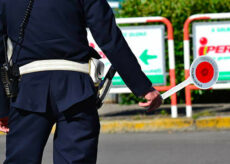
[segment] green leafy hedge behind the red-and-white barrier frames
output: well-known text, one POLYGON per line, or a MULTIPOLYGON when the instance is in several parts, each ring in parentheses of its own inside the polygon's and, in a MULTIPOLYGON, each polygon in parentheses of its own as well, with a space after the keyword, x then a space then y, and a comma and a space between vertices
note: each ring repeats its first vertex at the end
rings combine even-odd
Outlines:
MULTIPOLYGON (((172 22, 176 54, 176 79, 178 83, 184 80, 183 25, 186 19, 198 13, 229 11, 230 1, 228 0, 124 0, 122 8, 117 11, 117 17, 163 16, 172 22)), ((194 92, 193 96, 202 95, 205 92, 209 93, 210 91, 194 92)), ((178 92, 178 101, 179 103, 184 103, 183 91, 178 92)))

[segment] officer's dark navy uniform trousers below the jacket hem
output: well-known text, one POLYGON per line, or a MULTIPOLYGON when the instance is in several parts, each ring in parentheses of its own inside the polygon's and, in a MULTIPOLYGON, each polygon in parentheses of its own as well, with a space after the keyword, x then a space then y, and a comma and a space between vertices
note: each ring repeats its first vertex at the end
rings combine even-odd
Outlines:
POLYGON ((49 100, 46 111, 35 113, 11 107, 4 164, 40 164, 55 123, 54 164, 95 164, 100 131, 95 96, 62 113, 49 100))

